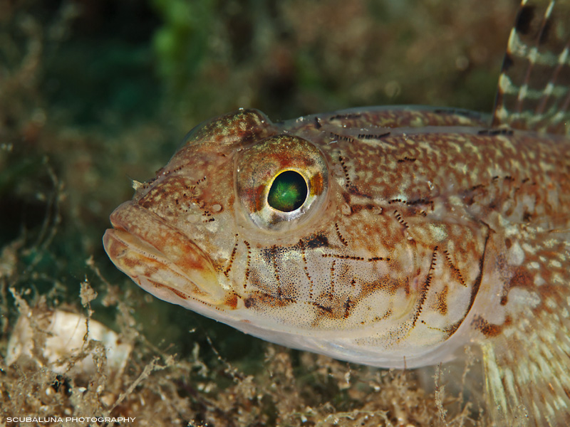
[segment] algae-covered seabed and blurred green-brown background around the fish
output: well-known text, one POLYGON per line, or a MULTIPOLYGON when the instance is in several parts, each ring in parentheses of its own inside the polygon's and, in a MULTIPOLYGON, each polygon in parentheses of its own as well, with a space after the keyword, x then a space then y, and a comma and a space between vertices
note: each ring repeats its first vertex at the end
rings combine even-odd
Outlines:
POLYGON ((100 237, 132 196, 130 179, 150 178, 188 130, 237 107, 274 120, 386 104, 490 112, 516 9, 510 0, 1 2, 0 425, 18 416, 482 425, 477 354, 386 371, 267 344, 147 295, 100 237), (125 364, 113 368, 88 337, 51 361, 45 331, 61 311, 114 330, 132 349, 125 364), (9 364, 14 334, 33 346, 9 364), (89 369, 71 369, 88 357, 89 369))

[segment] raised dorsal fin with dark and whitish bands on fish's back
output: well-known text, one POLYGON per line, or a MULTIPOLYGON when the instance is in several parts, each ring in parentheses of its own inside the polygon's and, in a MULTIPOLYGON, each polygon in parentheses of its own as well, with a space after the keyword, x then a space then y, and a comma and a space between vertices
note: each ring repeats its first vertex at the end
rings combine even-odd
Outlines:
POLYGON ((493 112, 502 125, 570 134, 570 0, 522 0, 493 112))

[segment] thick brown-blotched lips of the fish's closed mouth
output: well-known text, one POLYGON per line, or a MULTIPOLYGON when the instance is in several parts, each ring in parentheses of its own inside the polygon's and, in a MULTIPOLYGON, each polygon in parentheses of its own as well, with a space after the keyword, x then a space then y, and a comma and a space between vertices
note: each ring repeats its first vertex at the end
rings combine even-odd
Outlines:
POLYGON ((103 247, 115 266, 155 297, 195 310, 222 305, 227 292, 209 257, 151 211, 125 202, 110 216, 103 247))

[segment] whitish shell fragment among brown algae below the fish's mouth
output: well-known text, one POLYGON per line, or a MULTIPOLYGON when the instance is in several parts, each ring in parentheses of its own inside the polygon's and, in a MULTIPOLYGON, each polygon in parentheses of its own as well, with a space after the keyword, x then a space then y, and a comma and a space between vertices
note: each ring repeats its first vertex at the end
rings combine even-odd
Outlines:
POLYGON ((87 327, 86 317, 76 313, 56 310, 41 319, 34 318, 33 324, 35 327, 26 315, 19 317, 8 342, 6 364, 14 364, 20 357, 30 357, 43 366, 42 361, 33 356, 35 343, 43 342, 40 354, 45 357, 46 367, 51 371, 56 374, 65 374, 70 370, 76 374, 93 374, 96 369, 92 355, 80 356, 92 339, 102 342, 105 347, 108 373, 118 374, 125 368, 132 350, 130 344, 121 343, 118 334, 102 323, 89 320, 87 327), (86 333, 88 335, 84 341, 86 333), (37 339, 42 334, 45 334, 45 341, 37 339), (70 367, 70 359, 75 357, 79 359, 70 367))

